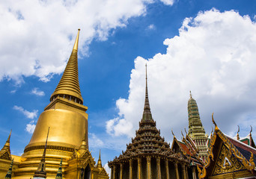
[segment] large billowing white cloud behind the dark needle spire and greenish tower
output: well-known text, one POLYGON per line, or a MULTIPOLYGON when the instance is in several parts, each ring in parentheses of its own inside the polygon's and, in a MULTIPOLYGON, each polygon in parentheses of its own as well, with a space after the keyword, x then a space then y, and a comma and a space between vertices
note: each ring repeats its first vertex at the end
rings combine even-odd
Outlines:
POLYGON ((171 128, 179 135, 188 126, 189 90, 208 132, 213 112, 225 133, 247 124, 248 116, 256 119, 256 24, 249 16, 234 10, 200 12, 184 19, 179 35, 164 45, 165 54, 135 59, 129 97, 116 101, 119 117, 106 122, 109 133, 135 135, 144 106, 145 63, 151 111, 167 140, 171 128))

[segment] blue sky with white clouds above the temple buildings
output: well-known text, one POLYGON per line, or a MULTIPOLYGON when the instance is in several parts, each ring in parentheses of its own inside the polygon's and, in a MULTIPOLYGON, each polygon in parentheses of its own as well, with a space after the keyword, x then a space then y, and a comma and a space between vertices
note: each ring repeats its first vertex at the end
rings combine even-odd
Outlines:
POLYGON ((188 128, 189 90, 208 134, 213 112, 231 136, 237 125, 242 136, 256 127, 253 0, 7 1, 0 10, 0 143, 12 129, 12 154, 22 154, 49 104, 78 28, 79 83, 96 160, 100 148, 103 163, 112 160, 134 136, 146 62, 153 118, 168 142, 171 128, 177 136, 188 128))

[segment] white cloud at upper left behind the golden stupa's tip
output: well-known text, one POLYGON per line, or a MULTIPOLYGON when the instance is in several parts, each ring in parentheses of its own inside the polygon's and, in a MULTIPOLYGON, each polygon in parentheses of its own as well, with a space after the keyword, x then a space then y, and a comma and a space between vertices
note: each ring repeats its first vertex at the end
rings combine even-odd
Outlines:
MULTIPOLYGON (((156 1, 156 0, 155 0, 156 1)), ((76 29, 81 28, 80 54, 91 40, 106 40, 109 31, 146 13, 154 0, 3 1, 0 4, 0 81, 35 75, 49 81, 64 70, 76 29)), ((171 4, 170 0, 162 1, 171 4)))

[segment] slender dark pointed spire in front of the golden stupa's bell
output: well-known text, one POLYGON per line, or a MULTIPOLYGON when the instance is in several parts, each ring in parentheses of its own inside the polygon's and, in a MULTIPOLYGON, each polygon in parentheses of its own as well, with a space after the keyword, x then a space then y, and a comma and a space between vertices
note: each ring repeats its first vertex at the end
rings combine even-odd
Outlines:
POLYGON ((44 149, 43 149, 43 157, 39 163, 37 171, 34 172, 33 178, 46 178, 46 148, 47 148, 48 136, 49 136, 49 128, 48 128, 48 133, 46 137, 46 145, 44 146, 44 149))

